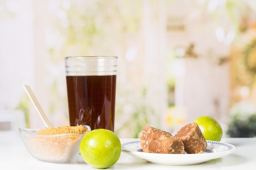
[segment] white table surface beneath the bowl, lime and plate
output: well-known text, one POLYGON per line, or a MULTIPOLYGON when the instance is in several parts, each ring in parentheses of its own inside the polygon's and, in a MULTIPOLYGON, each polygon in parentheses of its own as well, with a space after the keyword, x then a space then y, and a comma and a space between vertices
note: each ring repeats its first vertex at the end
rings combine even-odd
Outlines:
MULTIPOLYGON (((121 143, 134 141, 136 139, 120 139, 121 143)), ((114 166, 108 169, 115 170, 251 170, 256 166, 256 138, 222 138, 220 142, 225 142, 236 146, 236 150, 230 155, 213 159, 198 165, 170 166, 149 163, 143 159, 132 157, 126 152, 121 152, 121 156, 114 166)), ((81 155, 78 155, 69 163, 47 163, 38 161, 32 157, 22 142, 17 131, 0 131, 0 170, 95 170, 86 164, 81 155)))

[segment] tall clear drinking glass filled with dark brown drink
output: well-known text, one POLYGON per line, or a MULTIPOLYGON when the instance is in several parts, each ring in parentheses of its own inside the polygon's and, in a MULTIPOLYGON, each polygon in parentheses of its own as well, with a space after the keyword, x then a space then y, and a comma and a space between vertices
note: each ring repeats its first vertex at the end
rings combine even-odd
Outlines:
POLYGON ((114 132, 117 56, 64 57, 70 126, 114 132))

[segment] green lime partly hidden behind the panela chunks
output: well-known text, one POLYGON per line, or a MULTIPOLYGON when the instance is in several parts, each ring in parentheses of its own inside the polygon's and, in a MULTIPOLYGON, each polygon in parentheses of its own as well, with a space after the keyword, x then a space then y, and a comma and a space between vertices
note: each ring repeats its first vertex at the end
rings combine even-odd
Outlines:
POLYGON ((222 128, 213 117, 202 116, 196 118, 193 122, 198 124, 206 140, 220 141, 222 138, 222 128))

